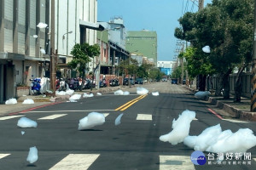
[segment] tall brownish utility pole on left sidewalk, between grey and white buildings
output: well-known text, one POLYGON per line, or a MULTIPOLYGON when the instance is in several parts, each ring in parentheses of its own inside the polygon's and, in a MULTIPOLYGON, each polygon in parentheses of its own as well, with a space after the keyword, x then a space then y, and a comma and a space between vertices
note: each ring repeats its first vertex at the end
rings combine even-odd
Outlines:
POLYGON ((56 55, 55 55, 55 0, 51 0, 50 8, 50 88, 55 95, 55 79, 56 79, 56 55))

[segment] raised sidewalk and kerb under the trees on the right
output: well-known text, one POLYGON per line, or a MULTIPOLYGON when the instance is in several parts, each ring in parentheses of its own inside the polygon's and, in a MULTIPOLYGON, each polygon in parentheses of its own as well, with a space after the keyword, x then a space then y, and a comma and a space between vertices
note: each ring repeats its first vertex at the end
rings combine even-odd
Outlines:
MULTIPOLYGON (((187 86, 183 87, 189 88, 187 86)), ((195 87, 189 88, 189 90, 196 92, 195 87)), ((211 94, 206 100, 210 105, 215 106, 218 114, 222 116, 229 116, 243 121, 256 121, 256 112, 250 111, 251 99, 241 98, 241 103, 234 103, 233 96, 230 96, 230 99, 223 99, 223 97, 216 97, 211 94)))

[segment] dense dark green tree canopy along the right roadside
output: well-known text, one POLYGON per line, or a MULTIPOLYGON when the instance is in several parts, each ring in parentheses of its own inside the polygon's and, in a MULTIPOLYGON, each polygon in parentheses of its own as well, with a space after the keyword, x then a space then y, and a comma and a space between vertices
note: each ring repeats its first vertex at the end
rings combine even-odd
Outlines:
POLYGON ((175 37, 191 42, 184 57, 191 76, 224 73, 251 61, 253 0, 214 0, 201 11, 179 19, 175 37), (209 45, 210 54, 201 50, 209 45))

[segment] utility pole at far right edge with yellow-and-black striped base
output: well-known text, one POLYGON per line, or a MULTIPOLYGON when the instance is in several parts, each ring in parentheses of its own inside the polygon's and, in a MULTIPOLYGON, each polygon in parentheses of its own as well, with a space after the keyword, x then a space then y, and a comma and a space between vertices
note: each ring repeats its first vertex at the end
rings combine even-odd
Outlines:
POLYGON ((252 79, 252 99, 251 111, 256 111, 256 0, 254 0, 254 24, 253 24, 253 79, 252 79))

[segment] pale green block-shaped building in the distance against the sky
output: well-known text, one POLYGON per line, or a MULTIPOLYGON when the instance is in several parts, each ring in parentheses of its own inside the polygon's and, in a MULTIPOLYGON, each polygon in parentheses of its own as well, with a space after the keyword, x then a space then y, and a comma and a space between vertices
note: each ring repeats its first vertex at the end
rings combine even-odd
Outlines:
POLYGON ((156 31, 127 31, 126 50, 130 53, 143 54, 148 59, 157 62, 157 34, 156 31))

